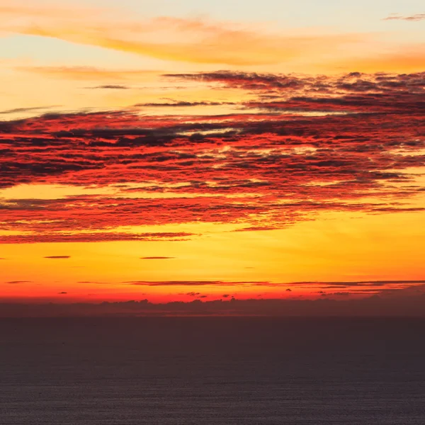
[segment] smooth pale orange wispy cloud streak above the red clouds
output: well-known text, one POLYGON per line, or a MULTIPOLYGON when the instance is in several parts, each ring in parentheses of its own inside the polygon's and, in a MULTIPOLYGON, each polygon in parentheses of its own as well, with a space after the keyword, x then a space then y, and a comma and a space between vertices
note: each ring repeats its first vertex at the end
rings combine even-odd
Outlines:
POLYGON ((42 8, 16 4, 0 8, 0 29, 57 38, 159 60, 251 66, 300 57, 337 55, 341 46, 361 52, 371 35, 271 30, 271 26, 215 22, 206 18, 162 16, 149 20, 111 13, 106 8, 42 8))

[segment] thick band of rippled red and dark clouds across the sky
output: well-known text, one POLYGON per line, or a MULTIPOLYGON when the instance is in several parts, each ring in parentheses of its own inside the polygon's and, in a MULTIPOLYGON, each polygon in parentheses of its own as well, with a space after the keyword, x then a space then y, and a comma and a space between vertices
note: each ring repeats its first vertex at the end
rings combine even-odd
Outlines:
POLYGON ((327 211, 423 210, 424 73, 166 78, 251 100, 228 115, 132 110, 0 122, 0 196, 8 193, 0 223, 14 232, 0 241, 181 240, 193 234, 132 228, 219 222, 254 231, 327 211), (20 198, 13 188, 37 186, 19 185, 78 194, 20 198))

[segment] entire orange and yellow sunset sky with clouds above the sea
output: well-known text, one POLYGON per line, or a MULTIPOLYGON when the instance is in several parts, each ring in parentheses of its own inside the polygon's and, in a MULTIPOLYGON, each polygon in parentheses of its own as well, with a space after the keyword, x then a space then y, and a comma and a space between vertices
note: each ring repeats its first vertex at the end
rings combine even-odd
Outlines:
POLYGON ((0 305, 421 310, 424 52, 416 0, 0 0, 0 305))

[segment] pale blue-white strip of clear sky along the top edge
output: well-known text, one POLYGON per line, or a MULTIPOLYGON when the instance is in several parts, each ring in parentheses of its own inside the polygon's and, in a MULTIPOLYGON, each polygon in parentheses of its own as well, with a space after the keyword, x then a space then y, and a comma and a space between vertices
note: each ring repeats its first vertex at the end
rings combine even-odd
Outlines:
POLYGON ((425 9, 422 0, 86 0, 84 4, 128 8, 143 18, 205 16, 219 21, 274 21, 284 28, 338 26, 350 30, 397 28, 394 21, 381 19, 390 13, 411 15, 425 9))

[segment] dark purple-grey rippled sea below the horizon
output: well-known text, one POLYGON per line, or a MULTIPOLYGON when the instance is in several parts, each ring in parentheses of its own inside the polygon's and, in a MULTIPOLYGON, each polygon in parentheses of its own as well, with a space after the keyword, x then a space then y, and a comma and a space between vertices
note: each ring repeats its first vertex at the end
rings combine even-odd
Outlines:
POLYGON ((425 319, 0 319, 0 424, 425 424, 425 319))

